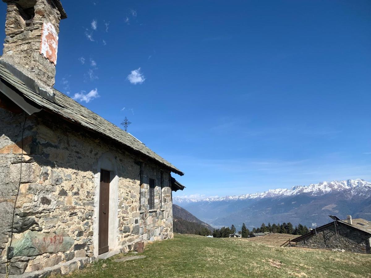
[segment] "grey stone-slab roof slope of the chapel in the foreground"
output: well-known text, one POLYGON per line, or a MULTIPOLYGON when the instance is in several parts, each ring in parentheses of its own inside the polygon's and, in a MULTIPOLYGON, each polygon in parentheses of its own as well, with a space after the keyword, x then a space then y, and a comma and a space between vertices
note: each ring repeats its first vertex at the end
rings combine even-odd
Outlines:
POLYGON ((184 175, 183 172, 177 169, 170 162, 163 159, 157 153, 153 152, 130 133, 125 132, 113 123, 108 122, 108 120, 105 120, 58 90, 53 89, 55 95, 54 99, 47 99, 27 87, 23 81, 17 78, 2 64, 0 64, 0 80, 3 80, 16 88, 23 98, 27 99, 29 102, 31 101, 32 103, 35 103, 42 109, 54 112, 69 122, 77 123, 86 129, 100 133, 102 136, 114 139, 135 152, 139 152, 167 168, 170 168, 172 172, 181 176, 184 175))

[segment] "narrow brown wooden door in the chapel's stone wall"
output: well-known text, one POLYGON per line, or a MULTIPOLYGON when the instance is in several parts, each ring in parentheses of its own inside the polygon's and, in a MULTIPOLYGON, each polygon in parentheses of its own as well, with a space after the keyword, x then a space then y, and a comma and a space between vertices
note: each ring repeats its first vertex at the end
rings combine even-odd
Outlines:
POLYGON ((99 189, 99 246, 98 254, 108 252, 109 171, 101 170, 99 189))

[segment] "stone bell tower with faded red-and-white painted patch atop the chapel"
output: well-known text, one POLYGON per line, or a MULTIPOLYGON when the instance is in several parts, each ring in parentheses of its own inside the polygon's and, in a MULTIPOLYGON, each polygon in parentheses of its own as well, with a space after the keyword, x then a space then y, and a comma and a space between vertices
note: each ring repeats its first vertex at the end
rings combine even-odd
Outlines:
MULTIPOLYGON (((55 83, 59 22, 67 17, 62 3, 60 0, 3 2, 8 7, 0 62, 11 64, 12 69, 15 67, 50 92, 55 83)), ((14 74, 14 69, 10 71, 14 74)))

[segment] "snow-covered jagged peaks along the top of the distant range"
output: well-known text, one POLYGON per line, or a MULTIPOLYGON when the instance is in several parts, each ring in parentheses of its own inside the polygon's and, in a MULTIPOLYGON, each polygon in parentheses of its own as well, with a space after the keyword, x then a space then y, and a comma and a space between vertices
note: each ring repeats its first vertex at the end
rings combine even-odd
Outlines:
POLYGON ((362 186, 371 186, 371 182, 367 182, 363 179, 348 179, 347 181, 332 181, 332 182, 320 182, 312 183, 308 186, 294 186, 291 189, 278 188, 269 189, 262 193, 252 193, 238 196, 225 196, 225 197, 209 197, 209 198, 187 198, 187 197, 174 197, 173 202, 191 203, 191 202, 217 202, 217 201, 235 201, 244 199, 256 199, 256 198, 280 198, 285 196, 294 196, 299 194, 308 194, 311 196, 321 196, 327 193, 335 193, 350 188, 359 188, 362 186))

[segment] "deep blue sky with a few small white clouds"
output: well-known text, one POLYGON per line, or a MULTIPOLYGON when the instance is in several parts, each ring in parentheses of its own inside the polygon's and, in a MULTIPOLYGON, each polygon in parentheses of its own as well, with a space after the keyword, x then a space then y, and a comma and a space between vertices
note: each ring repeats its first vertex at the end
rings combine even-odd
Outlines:
POLYGON ((176 195, 371 180, 370 1, 62 3, 55 87, 127 116, 176 195))

